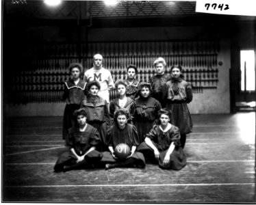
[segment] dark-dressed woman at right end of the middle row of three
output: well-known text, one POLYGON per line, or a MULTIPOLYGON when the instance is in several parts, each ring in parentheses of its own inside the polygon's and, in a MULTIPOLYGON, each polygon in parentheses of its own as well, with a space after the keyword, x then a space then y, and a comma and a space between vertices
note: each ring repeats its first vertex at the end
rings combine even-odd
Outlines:
POLYGON ((151 97, 151 84, 141 83, 139 89, 140 98, 136 99, 134 113, 134 124, 137 128, 139 141, 144 141, 144 135, 149 133, 154 124, 157 124, 160 102, 151 97))

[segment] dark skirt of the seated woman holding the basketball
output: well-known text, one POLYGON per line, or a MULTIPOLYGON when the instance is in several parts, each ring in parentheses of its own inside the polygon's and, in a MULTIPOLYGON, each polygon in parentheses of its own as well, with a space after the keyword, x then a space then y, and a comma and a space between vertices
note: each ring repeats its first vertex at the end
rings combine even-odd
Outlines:
POLYGON ((116 163, 119 164, 120 166, 118 167, 139 167, 139 168, 144 168, 146 163, 145 159, 142 153, 140 152, 134 152, 133 156, 131 156, 131 161, 129 159, 126 159, 124 161, 119 161, 118 159, 114 159, 112 154, 110 152, 103 152, 102 153, 102 159, 101 159, 101 164, 106 164, 106 163, 116 163), (129 161, 131 163, 129 163, 129 161))

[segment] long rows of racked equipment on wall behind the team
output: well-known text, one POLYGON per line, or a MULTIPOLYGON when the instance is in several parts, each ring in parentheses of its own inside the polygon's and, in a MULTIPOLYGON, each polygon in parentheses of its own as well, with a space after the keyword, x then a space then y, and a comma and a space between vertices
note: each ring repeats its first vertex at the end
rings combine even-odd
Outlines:
MULTIPOLYGON (((218 88, 219 52, 216 40, 37 44, 23 53, 29 66, 13 74, 10 89, 15 97, 12 102, 61 102, 69 64, 80 62, 85 70, 89 69, 96 53, 103 55, 103 66, 110 70, 114 81, 125 79, 129 64, 138 67, 140 81, 149 81, 155 74, 153 61, 164 57, 168 71, 170 66, 180 64, 194 92, 203 93, 203 90, 218 88)), ((114 97, 116 93, 112 92, 111 98, 114 97)))

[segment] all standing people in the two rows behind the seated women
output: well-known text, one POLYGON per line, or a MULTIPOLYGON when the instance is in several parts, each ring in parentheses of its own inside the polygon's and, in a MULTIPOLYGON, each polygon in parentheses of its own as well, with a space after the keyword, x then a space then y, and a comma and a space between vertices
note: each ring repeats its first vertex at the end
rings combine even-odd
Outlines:
POLYGON ((84 107, 87 110, 87 123, 97 128, 101 137, 101 151, 107 150, 107 129, 113 123, 114 111, 125 108, 129 111, 128 122, 138 131, 139 142, 154 124, 158 123, 159 111, 171 111, 170 123, 181 133, 181 147, 185 146, 186 134, 192 131, 192 120, 187 103, 192 100, 192 86, 183 79, 182 68, 172 66, 166 73, 166 61, 162 57, 154 61, 157 74, 148 83, 136 79, 136 66, 127 67, 127 79, 114 81, 109 70, 102 67, 103 57, 94 55, 93 67, 86 70, 83 80, 81 64, 71 64, 71 77, 65 82, 63 139, 67 141, 68 129, 74 126, 73 113, 84 107), (110 90, 116 88, 118 98, 110 101, 110 90))

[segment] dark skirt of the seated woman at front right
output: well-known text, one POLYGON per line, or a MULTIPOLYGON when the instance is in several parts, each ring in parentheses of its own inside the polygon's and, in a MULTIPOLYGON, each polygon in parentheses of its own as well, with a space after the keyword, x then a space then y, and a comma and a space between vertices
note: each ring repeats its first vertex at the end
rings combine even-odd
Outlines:
POLYGON ((154 150, 149 147, 145 142, 142 142, 140 146, 137 148, 138 152, 142 152, 144 154, 144 157, 151 161, 151 163, 158 163, 159 167, 162 169, 174 169, 179 170, 185 167, 187 164, 187 157, 185 156, 185 153, 183 152, 183 149, 181 147, 175 147, 175 150, 173 150, 172 154, 170 154, 170 163, 168 166, 164 165, 164 157, 166 156, 167 150, 164 150, 160 152, 159 154, 159 160, 155 160, 155 154, 154 150))

